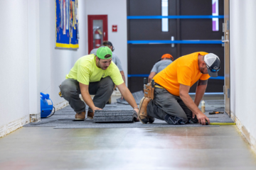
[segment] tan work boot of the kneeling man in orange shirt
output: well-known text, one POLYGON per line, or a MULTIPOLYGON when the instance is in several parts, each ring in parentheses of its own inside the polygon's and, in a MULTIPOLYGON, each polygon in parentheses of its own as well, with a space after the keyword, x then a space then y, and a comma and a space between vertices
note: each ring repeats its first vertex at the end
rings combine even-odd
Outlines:
POLYGON ((149 122, 149 117, 146 114, 146 106, 149 104, 149 101, 151 101, 150 98, 143 97, 142 100, 139 103, 139 121, 141 121, 143 124, 146 124, 149 122))

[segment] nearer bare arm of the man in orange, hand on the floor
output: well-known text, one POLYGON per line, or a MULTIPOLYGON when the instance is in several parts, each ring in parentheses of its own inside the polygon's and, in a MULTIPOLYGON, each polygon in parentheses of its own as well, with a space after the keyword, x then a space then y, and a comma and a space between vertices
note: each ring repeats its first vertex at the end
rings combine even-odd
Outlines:
POLYGON ((208 121, 208 123, 210 123, 210 120, 207 118, 207 116, 199 110, 198 106, 196 106, 196 104, 193 102, 191 96, 188 95, 189 89, 190 86, 180 84, 179 93, 181 100, 192 111, 192 113, 196 114, 199 123, 201 123, 202 125, 206 125, 206 120, 208 121))

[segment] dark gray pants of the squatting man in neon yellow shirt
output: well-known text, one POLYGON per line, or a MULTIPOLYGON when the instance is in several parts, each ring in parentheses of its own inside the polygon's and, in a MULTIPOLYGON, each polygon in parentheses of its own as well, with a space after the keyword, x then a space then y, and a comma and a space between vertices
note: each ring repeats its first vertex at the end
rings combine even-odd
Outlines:
MULTIPOLYGON (((105 77, 100 81, 89 84, 89 93, 90 95, 95 95, 92 101, 97 108, 105 107, 113 93, 113 89, 114 82, 110 77, 105 77)), ((65 79, 60 86, 60 92, 76 113, 85 111, 85 103, 79 97, 81 91, 77 80, 65 79)), ((89 108, 89 111, 92 112, 92 109, 89 108)))

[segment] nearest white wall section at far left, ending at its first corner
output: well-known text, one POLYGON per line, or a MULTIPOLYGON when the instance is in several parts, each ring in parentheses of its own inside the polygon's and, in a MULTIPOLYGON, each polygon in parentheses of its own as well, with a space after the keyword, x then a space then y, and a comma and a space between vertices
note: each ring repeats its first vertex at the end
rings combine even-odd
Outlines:
POLYGON ((0 1, 0 126, 28 115, 28 1, 0 1))

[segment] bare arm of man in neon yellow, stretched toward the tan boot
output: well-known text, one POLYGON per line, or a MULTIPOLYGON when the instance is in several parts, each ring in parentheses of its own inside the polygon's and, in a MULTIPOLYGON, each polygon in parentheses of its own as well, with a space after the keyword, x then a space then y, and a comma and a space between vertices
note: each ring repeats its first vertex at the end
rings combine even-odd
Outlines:
POLYGON ((132 96, 131 92, 127 88, 127 86, 125 86, 125 84, 122 83, 122 84, 118 85, 117 88, 121 92, 122 96, 124 96, 124 99, 129 103, 129 105, 132 106, 132 108, 135 108, 134 110, 138 113, 139 109, 137 108, 138 107, 137 103, 136 103, 134 97, 132 96))

